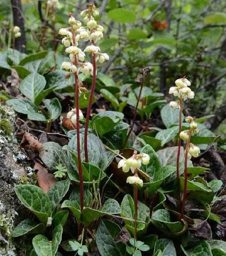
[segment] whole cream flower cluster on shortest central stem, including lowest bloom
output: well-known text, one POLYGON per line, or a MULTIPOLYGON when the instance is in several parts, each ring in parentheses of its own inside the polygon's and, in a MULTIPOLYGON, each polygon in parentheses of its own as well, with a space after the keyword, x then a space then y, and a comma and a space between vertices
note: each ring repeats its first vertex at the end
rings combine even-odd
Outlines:
POLYGON ((128 159, 121 159, 118 163, 118 168, 122 167, 124 173, 128 173, 131 170, 132 173, 135 173, 134 176, 129 176, 126 180, 130 184, 139 184, 143 186, 143 180, 140 179, 137 175, 137 168, 140 168, 142 164, 147 165, 150 161, 148 154, 142 153, 137 155, 137 152, 128 159))

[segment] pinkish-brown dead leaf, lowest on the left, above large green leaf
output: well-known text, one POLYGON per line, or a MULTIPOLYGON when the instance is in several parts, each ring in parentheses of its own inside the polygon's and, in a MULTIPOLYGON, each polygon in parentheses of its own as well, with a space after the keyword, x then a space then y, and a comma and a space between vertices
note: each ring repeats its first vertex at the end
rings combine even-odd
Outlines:
POLYGON ((58 179, 54 177, 54 174, 48 173, 48 170, 41 164, 36 163, 34 170, 38 170, 38 185, 45 193, 47 193, 48 190, 58 182, 58 179))

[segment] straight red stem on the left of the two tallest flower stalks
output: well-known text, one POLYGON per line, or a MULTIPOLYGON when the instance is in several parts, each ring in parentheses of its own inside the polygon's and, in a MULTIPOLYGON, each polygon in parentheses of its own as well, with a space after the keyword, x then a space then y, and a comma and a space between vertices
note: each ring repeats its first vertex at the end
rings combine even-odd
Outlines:
MULTIPOLYGON (((71 16, 71 13, 69 14, 71 16)), ((75 45, 75 30, 71 26, 72 32, 72 42, 75 45)), ((74 54, 74 65, 78 65, 77 55, 74 54)), ((79 188, 80 188, 80 210, 84 208, 84 185, 83 185, 83 171, 82 171, 82 161, 81 161, 81 151, 80 151, 80 131, 79 131, 79 89, 78 89, 78 75, 74 72, 75 77, 75 95, 76 95, 76 132, 77 132, 77 160, 78 160, 78 176, 79 176, 79 188)))

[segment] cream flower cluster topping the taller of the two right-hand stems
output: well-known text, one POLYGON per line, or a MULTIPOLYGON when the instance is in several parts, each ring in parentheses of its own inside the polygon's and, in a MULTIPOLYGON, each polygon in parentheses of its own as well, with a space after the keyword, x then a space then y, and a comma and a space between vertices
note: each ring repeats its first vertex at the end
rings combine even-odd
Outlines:
MULTIPOLYGON (((184 101, 194 98, 194 92, 188 87, 190 86, 190 81, 183 77, 175 81, 176 86, 172 86, 169 89, 169 94, 173 94, 175 97, 181 98, 184 101)), ((173 109, 179 108, 179 101, 171 101, 170 107, 173 109)))

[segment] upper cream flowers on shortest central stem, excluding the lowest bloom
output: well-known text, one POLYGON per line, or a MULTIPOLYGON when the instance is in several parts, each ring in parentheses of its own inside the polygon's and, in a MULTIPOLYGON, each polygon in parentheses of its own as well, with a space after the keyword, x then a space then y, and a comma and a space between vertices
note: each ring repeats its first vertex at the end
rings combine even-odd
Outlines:
POLYGON ((142 164, 147 165, 149 161, 150 157, 148 154, 134 154, 128 159, 121 159, 118 163, 118 168, 122 167, 124 173, 128 173, 129 170, 134 173, 137 168, 140 168, 142 164))

